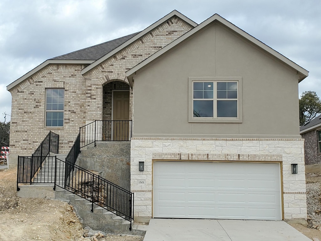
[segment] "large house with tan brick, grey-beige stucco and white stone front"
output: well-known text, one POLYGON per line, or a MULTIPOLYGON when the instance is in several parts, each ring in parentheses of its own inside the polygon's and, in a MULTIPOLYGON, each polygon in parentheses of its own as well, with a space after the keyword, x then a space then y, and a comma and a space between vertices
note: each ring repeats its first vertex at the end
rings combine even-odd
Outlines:
POLYGON ((297 93, 307 76, 218 14, 197 25, 173 11, 9 85, 10 160, 32 153, 49 130, 68 152, 80 126, 119 114, 132 120, 135 219, 306 219, 297 93))

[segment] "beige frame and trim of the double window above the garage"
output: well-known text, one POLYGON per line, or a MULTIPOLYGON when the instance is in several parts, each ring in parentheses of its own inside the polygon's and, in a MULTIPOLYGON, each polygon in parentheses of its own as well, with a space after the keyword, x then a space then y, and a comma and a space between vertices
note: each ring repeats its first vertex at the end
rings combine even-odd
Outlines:
MULTIPOLYGON (((212 100, 212 99, 206 99, 212 100)), ((235 99, 231 99, 235 100, 235 99)), ((188 77, 188 122, 221 122, 221 123, 242 123, 242 77, 188 77), (194 82, 237 82, 237 118, 216 117, 216 87, 213 90, 213 116, 214 117, 194 117, 193 115, 193 83, 194 82), (214 93, 215 92, 215 93, 214 93)))

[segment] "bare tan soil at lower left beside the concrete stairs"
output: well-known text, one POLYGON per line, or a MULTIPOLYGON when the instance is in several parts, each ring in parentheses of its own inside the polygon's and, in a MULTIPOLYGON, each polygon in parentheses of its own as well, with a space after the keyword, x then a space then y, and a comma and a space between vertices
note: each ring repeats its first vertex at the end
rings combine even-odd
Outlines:
POLYGON ((67 202, 40 198, 19 198, 17 168, 0 169, 0 240, 94 240, 142 241, 142 236, 86 235, 73 206, 67 202), (88 236, 88 237, 84 237, 88 236))

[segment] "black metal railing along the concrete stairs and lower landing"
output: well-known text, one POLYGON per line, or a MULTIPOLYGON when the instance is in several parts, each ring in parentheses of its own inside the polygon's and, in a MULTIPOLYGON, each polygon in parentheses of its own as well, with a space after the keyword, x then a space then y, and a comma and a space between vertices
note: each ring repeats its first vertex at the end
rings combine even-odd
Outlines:
MULTIPOLYGON (((103 123, 92 123, 97 124, 96 122, 103 123)), ((98 140, 94 138, 93 142, 98 140)), ((128 220, 131 230, 134 220, 134 193, 75 165, 81 148, 81 132, 65 161, 49 156, 50 152, 58 153, 58 142, 59 136, 49 132, 32 156, 18 156, 17 191, 20 191, 18 183, 54 183, 54 190, 59 186, 90 201, 91 211, 96 204, 128 220)))

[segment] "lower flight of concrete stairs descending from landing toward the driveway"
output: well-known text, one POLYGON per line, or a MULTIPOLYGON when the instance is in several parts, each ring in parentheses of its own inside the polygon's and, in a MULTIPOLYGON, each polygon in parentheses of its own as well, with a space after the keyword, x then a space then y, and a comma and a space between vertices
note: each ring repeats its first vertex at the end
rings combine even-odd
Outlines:
MULTIPOLYGON (((130 222, 123 217, 98 206, 94 203, 93 212, 91 212, 92 203, 67 190, 60 189, 55 192, 55 199, 67 201, 74 206, 74 209, 83 226, 89 226, 94 230, 108 231, 128 231, 130 222)), ((133 221, 132 221, 133 224, 133 221)))

